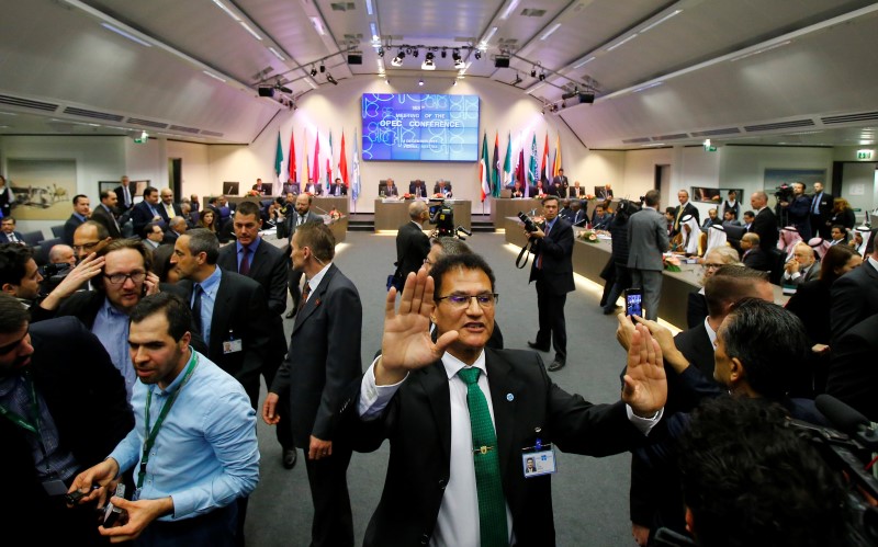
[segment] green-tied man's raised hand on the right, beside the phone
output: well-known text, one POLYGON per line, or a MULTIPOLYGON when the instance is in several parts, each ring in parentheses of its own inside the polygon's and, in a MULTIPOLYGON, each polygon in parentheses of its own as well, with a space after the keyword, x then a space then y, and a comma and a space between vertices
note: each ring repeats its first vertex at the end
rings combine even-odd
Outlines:
POLYGON ((622 400, 643 418, 654 415, 667 400, 662 349, 644 324, 637 324, 631 334, 622 400))

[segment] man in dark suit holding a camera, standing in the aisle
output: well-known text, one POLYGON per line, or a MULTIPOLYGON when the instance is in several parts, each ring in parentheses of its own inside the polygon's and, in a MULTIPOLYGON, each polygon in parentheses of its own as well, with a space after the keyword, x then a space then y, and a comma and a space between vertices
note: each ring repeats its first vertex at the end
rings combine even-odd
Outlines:
POLYGON ((534 350, 548 352, 550 340, 555 347, 555 358, 549 372, 564 368, 567 361, 567 326, 564 320, 564 304, 567 293, 576 287, 573 284, 573 226, 558 216, 558 196, 549 196, 542 202, 545 223, 536 230, 526 229, 525 237, 530 242, 533 263, 530 278, 537 282, 537 310, 540 330, 537 340, 528 342, 534 350))

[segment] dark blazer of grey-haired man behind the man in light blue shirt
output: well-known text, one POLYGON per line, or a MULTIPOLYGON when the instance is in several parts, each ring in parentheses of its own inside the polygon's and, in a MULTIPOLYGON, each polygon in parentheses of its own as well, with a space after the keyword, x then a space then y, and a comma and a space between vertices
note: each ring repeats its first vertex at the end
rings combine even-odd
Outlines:
MULTIPOLYGON (((183 280, 177 285, 185 289, 185 301, 189 303, 192 282, 183 280)), ((271 322, 262 286, 249 277, 224 270, 211 318, 207 357, 240 381, 254 408, 259 400, 259 374, 268 355, 270 337, 271 322), (241 339, 243 351, 223 352, 223 342, 228 340, 229 333, 241 339)))

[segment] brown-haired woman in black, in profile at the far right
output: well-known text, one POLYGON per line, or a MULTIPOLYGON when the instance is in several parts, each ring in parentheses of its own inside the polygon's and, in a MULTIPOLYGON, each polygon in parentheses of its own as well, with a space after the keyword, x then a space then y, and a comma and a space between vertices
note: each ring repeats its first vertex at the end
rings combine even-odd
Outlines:
POLYGON ((812 378, 810 386, 800 386, 800 397, 817 396, 826 387, 829 369, 830 311, 832 310, 832 284, 851 270, 859 266, 863 258, 847 246, 833 246, 823 257, 820 277, 799 286, 790 297, 786 308, 804 323, 804 330, 811 343, 811 358, 807 364, 812 378), (809 390, 813 390, 809 394, 809 390))

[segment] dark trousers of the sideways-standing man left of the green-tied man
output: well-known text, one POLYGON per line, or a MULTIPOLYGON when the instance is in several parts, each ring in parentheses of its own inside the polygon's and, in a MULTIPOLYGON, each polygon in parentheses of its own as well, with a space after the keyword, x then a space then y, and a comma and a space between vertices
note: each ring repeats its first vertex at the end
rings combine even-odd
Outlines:
POLYGON ((308 459, 307 444, 303 449, 314 503, 311 546, 353 546, 353 516, 347 477, 351 448, 334 442, 333 455, 323 459, 308 459))

